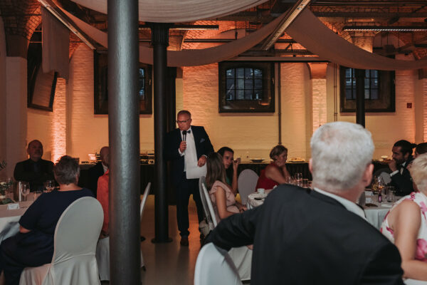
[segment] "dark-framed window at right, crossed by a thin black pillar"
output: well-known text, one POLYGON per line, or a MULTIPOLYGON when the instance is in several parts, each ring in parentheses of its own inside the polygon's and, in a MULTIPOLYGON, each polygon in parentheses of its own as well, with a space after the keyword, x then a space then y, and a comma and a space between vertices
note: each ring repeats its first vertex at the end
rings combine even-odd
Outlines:
MULTIPOLYGON (((394 112, 394 71, 364 70, 364 99, 367 112, 394 112)), ((356 81, 354 68, 340 66, 341 112, 356 110, 356 81)))

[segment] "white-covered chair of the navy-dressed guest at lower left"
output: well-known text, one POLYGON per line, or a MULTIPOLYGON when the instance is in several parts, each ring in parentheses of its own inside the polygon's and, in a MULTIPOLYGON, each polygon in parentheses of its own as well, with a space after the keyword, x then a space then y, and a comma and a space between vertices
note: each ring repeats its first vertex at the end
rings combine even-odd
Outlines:
POLYGON ((56 224, 52 262, 23 269, 20 285, 100 284, 95 259, 103 220, 93 197, 75 200, 56 224))

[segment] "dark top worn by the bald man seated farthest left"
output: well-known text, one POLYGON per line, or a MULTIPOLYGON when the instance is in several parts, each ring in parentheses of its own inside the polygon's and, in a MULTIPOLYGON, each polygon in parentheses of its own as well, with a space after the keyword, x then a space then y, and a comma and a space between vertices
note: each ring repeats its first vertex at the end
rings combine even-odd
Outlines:
POLYGON ((30 159, 18 162, 15 165, 14 177, 16 181, 30 182, 31 191, 43 190, 43 183, 55 178, 53 177, 53 162, 43 159, 38 162, 30 159))

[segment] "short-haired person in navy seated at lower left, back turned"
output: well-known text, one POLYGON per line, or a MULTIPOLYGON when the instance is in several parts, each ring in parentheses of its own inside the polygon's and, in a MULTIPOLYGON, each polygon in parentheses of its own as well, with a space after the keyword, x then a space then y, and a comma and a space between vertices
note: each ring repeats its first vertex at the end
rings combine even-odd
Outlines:
POLYGON ((38 197, 19 219, 19 233, 1 242, 0 271, 4 271, 7 285, 19 284, 25 267, 51 263, 53 236, 61 214, 76 199, 93 197, 90 190, 78 187, 79 172, 74 157, 60 157, 53 167, 59 190, 38 197))

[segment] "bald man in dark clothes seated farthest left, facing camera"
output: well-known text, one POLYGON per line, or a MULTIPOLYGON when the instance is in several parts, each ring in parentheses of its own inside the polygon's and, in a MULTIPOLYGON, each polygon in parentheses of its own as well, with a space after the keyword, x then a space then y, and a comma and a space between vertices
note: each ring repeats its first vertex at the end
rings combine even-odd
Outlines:
POLYGON ((53 162, 43 160, 43 145, 39 140, 28 143, 28 160, 16 163, 14 177, 16 181, 30 182, 31 191, 43 190, 46 180, 53 180, 53 162))

